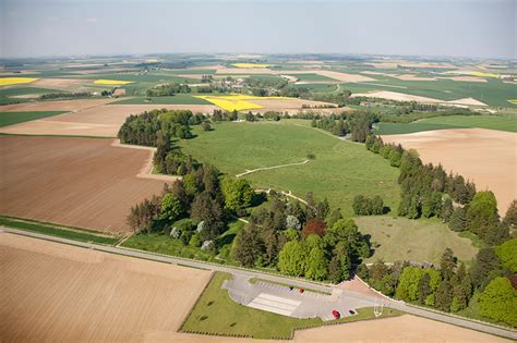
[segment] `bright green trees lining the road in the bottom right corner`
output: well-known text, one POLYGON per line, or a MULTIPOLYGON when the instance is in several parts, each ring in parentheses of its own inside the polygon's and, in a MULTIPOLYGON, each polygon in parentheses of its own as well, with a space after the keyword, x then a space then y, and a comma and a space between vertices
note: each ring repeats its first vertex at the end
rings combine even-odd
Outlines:
POLYGON ((377 260, 370 267, 361 265, 358 274, 382 293, 405 302, 459 314, 470 305, 488 319, 517 327, 516 249, 517 238, 482 248, 469 270, 447 248, 437 269, 377 260))

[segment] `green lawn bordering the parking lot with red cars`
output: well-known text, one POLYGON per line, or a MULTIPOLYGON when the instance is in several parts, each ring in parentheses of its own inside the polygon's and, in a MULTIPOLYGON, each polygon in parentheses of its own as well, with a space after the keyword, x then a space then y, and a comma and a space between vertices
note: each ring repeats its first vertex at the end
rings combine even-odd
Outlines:
MULTIPOLYGON (((230 299, 228 291, 220 286, 231 275, 216 272, 213 280, 195 304, 180 331, 203 332, 219 335, 243 335, 254 339, 290 339, 293 330, 325 324, 320 318, 297 319, 239 305, 230 299)), ((382 317, 400 315, 385 308, 382 317)), ((373 319, 373 308, 358 310, 358 315, 345 317, 338 322, 373 319)), ((330 321, 328 323, 336 323, 330 321)))

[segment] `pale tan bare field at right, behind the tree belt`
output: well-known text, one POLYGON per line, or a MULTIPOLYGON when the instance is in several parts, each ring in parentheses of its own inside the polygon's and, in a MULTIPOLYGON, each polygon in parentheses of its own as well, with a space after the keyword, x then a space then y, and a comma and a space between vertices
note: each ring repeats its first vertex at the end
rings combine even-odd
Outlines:
POLYGON ((386 143, 416 149, 424 162, 442 163, 476 183, 478 191, 490 189, 497 198, 501 215, 517 198, 517 134, 484 128, 453 128, 405 135, 384 135, 386 143))

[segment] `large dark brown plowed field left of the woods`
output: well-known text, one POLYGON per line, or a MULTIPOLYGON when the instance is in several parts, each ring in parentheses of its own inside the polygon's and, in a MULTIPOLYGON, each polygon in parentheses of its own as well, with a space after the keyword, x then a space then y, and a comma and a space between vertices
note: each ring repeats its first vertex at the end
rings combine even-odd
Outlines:
POLYGON ((0 136, 0 213, 101 231, 128 231, 131 206, 164 181, 141 179, 152 151, 111 139, 0 136))

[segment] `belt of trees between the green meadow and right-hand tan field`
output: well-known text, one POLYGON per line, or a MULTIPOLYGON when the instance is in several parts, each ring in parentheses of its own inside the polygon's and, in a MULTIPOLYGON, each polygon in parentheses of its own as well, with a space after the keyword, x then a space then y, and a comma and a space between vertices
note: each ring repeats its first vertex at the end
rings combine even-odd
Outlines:
POLYGON ((381 137, 369 136, 365 146, 400 168, 399 216, 411 219, 437 217, 448 222, 452 230, 470 231, 491 245, 509 237, 509 225, 500 220, 492 192, 477 193, 476 185, 461 175, 447 174, 441 164, 424 164, 414 150, 384 144, 381 137))

